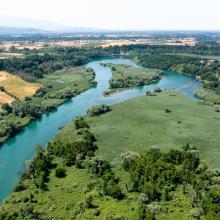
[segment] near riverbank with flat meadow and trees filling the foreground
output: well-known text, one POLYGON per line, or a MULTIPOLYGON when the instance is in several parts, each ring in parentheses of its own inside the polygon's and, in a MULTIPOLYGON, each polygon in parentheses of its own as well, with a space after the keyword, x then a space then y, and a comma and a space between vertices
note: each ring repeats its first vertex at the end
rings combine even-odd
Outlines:
MULTIPOLYGON (((219 185, 215 181, 219 174, 208 168, 205 162, 214 167, 220 165, 218 144, 214 146, 214 143, 220 143, 219 113, 213 113, 212 106, 200 105, 173 91, 137 97, 112 105, 111 109, 99 116, 78 118, 77 123, 71 121, 49 142, 46 153, 40 151, 39 154, 38 151, 36 155, 40 155, 41 162, 44 161, 43 170, 47 168, 46 156, 53 156, 53 166, 49 168, 48 178, 43 180, 46 188, 38 187, 38 176, 30 178, 27 173, 15 192, 0 206, 2 215, 11 217, 16 213, 22 216, 25 210, 29 210, 29 216, 42 219, 138 219, 140 204, 144 201, 143 204, 159 220, 165 217, 187 220, 202 207, 206 210, 198 212, 199 216, 217 219, 215 202, 212 206, 211 202, 197 204, 191 199, 192 193, 198 193, 191 179, 209 184, 205 190, 199 189, 203 198, 207 199, 209 190, 216 193, 213 197, 218 195, 219 185), (210 135, 215 139, 210 139, 210 135), (94 148, 96 145, 98 148, 94 148), (147 154, 150 151, 151 154, 147 154), (157 161, 160 155, 164 161, 157 161), (141 165, 138 166, 140 176, 131 176, 128 167, 137 158, 142 161, 138 163, 141 165), (199 163, 196 170, 192 170, 192 160, 199 163), (186 165, 189 168, 184 171, 188 176, 184 179, 181 169, 186 165), (106 170, 109 172, 107 177, 103 175, 106 170), (166 186, 157 182, 164 181, 164 175, 166 186), (133 185, 132 177, 138 178, 138 185, 144 181, 145 187, 133 185), (149 177, 155 187, 147 185, 149 177), (176 182, 178 187, 172 188, 176 182), (154 191, 147 190, 147 186, 154 191), (167 189, 165 194, 164 189, 167 189), (151 195, 149 200, 147 195, 151 195)), ((35 156, 35 160, 38 161, 38 157, 35 156)), ((34 164, 35 169, 29 169, 29 172, 42 169, 38 167, 42 163, 34 164)), ((133 170, 132 174, 136 171, 133 170)))

